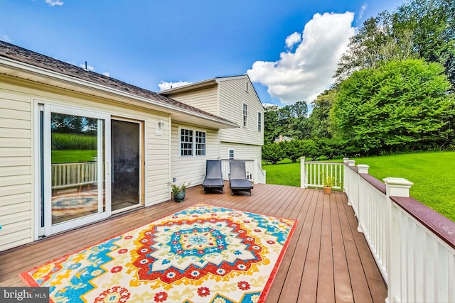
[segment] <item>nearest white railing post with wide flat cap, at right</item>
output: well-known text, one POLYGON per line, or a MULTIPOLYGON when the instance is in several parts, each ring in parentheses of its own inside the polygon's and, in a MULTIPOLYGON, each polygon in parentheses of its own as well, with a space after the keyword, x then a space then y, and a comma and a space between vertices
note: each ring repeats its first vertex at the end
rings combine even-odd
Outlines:
POLYGON ((401 302, 402 281, 401 281, 401 231, 400 231, 400 210, 390 199, 390 196, 410 197, 412 182, 403 178, 387 177, 385 182, 385 195, 388 203, 389 214, 387 216, 388 228, 387 239, 387 298, 386 302, 401 302))

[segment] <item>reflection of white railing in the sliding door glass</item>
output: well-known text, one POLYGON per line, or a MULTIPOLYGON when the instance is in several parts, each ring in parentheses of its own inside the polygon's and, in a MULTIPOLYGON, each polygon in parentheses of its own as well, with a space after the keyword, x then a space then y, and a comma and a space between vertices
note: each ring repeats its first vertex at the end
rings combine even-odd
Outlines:
POLYGON ((97 182, 97 162, 52 165, 52 189, 76 187, 97 182))

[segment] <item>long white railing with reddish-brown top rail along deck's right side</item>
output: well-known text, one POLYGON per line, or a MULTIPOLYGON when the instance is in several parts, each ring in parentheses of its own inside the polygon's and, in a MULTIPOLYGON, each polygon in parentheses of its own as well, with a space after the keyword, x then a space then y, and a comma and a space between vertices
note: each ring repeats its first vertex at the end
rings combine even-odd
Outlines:
POLYGON ((386 302, 455 302, 455 222, 410 198, 408 180, 381 182, 347 158, 343 170, 358 231, 387 284, 386 302))

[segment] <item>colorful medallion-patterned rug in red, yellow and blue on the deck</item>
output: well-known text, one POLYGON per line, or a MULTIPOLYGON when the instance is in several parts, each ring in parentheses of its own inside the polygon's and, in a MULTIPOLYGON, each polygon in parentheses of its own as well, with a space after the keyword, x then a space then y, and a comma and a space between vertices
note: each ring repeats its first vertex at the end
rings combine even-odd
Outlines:
POLYGON ((264 302, 295 225, 198 204, 21 277, 53 302, 264 302))

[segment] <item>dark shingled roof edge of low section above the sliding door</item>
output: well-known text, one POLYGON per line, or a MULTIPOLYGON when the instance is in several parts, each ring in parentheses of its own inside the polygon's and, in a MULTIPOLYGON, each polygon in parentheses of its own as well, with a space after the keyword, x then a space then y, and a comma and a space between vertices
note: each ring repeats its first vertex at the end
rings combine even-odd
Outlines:
POLYGON ((137 87, 132 84, 122 82, 112 77, 107 77, 105 75, 98 74, 97 72, 85 70, 81 67, 77 67, 70 63, 57 60, 53 57, 48 57, 46 55, 35 53, 31 50, 27 50, 17 45, 6 43, 0 40, 0 58, 1 57, 6 57, 11 60, 23 62, 28 65, 33 65, 34 67, 40 67, 44 70, 57 72, 61 75, 74 77, 76 79, 82 79, 87 82, 102 85, 103 87, 112 88, 116 91, 126 92, 137 97, 149 99, 151 101, 156 101, 158 103, 163 104, 163 106, 167 108, 171 106, 171 108, 173 107, 176 109, 183 109, 184 111, 188 112, 188 114, 205 116, 207 119, 215 119, 217 121, 220 121, 220 123, 226 123, 232 126, 235 125, 235 123, 233 123, 232 121, 228 121, 227 119, 223 119, 219 116, 215 116, 206 111, 202 111, 200 109, 197 109, 196 107, 183 104, 179 101, 173 100, 169 97, 165 97, 156 92, 151 92, 147 89, 143 89, 141 87, 137 87))

